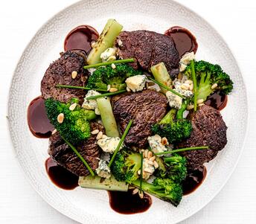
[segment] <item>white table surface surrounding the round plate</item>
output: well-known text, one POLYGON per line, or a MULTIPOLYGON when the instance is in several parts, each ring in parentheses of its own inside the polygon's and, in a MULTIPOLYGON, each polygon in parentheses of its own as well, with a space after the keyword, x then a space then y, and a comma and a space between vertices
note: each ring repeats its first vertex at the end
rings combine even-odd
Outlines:
MULTIPOLYGON (((75 223, 51 208, 25 179, 10 147, 7 96, 13 70, 37 29, 74 0, 0 1, 0 223, 75 223)), ((246 81, 250 121, 243 155, 223 190, 182 223, 256 223, 256 3, 179 0, 219 31, 246 81)))

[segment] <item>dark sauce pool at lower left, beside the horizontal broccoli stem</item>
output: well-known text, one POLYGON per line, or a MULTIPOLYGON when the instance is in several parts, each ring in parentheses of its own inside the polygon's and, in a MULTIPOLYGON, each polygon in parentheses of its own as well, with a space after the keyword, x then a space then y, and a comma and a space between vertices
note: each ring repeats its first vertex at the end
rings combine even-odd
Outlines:
POLYGON ((51 181, 57 187, 64 190, 73 190, 78 187, 78 176, 58 165, 53 159, 48 158, 45 161, 45 169, 51 181))

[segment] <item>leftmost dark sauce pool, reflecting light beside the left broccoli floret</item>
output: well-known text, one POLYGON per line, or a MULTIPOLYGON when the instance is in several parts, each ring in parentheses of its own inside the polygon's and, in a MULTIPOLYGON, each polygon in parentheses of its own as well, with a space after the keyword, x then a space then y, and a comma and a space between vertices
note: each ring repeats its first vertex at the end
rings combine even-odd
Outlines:
POLYGON ((54 130, 45 112, 45 100, 41 96, 33 99, 28 106, 28 127, 37 138, 50 138, 54 130))

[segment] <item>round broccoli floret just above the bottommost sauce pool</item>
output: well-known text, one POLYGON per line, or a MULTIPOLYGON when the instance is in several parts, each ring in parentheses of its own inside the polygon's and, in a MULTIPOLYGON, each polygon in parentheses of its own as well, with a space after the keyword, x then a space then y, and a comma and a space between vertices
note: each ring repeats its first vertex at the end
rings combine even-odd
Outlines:
POLYGON ((141 169, 141 155, 127 149, 117 153, 111 166, 115 179, 128 183, 138 179, 139 169, 141 169))

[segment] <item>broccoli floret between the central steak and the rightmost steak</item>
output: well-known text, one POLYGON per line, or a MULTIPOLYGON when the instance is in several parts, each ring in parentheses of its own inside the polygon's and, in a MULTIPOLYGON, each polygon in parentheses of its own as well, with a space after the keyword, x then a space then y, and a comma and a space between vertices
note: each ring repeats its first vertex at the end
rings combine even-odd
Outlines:
POLYGON ((175 112, 175 109, 171 109, 158 124, 153 124, 151 127, 155 135, 160 135, 162 138, 166 137, 171 144, 178 143, 188 138, 192 132, 191 121, 186 119, 173 121, 175 112))

